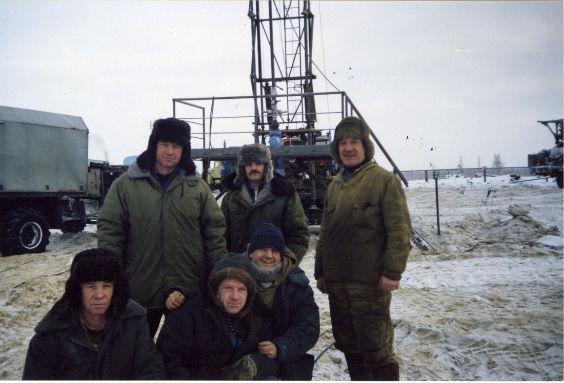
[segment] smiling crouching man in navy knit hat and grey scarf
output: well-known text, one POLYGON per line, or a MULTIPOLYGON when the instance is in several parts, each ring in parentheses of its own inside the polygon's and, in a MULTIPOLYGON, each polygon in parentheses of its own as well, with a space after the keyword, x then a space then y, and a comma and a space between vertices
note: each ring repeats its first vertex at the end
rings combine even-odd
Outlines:
POLYGON ((253 309, 266 323, 266 340, 259 342, 258 351, 277 362, 277 378, 311 380, 314 357, 307 351, 319 337, 319 308, 309 279, 285 248, 280 229, 263 222, 244 253, 260 297, 253 309))

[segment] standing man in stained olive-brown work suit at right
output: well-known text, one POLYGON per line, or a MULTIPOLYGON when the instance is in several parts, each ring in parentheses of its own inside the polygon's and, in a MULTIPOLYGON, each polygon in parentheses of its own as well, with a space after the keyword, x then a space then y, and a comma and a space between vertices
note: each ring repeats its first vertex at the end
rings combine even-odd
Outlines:
POLYGON ((329 152, 343 168, 325 194, 315 279, 351 380, 399 380, 390 302, 411 250, 406 195, 372 161, 367 123, 346 117, 334 137, 329 152))

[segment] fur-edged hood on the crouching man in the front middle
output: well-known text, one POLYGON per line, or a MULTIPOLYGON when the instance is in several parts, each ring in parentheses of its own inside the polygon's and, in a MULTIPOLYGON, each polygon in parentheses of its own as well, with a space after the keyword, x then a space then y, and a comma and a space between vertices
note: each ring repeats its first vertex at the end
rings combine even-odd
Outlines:
POLYGON ((244 317, 253 304, 254 293, 257 290, 253 275, 251 261, 243 254, 228 253, 223 256, 211 269, 208 279, 208 290, 215 304, 222 306, 222 303, 217 298, 217 290, 223 279, 232 278, 240 280, 247 288, 247 297, 243 309, 236 315, 244 317))

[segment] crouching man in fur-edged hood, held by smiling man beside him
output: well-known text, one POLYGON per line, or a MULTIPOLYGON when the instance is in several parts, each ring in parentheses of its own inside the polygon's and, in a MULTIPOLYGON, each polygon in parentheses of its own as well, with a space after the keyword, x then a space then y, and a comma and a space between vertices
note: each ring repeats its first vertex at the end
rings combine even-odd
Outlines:
MULTIPOLYGON (((209 271, 209 268, 206 268, 209 271)), ((276 363, 258 353, 261 319, 251 310, 256 291, 250 262, 229 253, 171 311, 157 339, 170 380, 262 380, 276 363)))

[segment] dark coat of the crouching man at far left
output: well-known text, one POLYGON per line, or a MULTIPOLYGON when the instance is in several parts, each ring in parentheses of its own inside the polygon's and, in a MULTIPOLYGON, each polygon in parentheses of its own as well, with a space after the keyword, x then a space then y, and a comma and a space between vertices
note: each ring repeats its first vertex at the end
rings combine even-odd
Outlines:
POLYGON ((95 351, 76 313, 52 310, 35 328, 25 358, 24 380, 162 380, 162 357, 149 336, 145 310, 127 302, 119 317, 109 315, 95 351))

